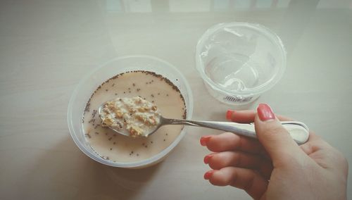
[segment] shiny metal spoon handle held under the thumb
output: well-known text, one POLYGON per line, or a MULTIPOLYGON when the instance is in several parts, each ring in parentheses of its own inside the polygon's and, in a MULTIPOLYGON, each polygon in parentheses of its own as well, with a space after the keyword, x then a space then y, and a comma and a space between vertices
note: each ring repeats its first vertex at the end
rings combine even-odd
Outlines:
MULTIPOLYGON (((254 124, 241 124, 231 122, 214 122, 214 121, 193 121, 193 120, 175 120, 163 119, 165 124, 169 125, 191 125, 198 127, 208 127, 216 130, 223 130, 225 132, 233 132, 237 135, 256 138, 256 130, 254 124)), ((309 130, 307 125, 301 122, 283 121, 282 125, 289 132, 291 137, 297 144, 304 144, 309 137, 309 130)))

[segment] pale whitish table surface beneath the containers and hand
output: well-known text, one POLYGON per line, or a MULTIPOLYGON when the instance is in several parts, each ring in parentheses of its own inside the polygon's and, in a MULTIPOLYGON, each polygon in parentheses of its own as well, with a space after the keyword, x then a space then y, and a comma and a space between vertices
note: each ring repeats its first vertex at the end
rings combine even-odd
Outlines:
POLYGON ((82 76, 128 54, 176 65, 194 119, 225 120, 236 107, 206 92, 194 50, 208 27, 235 20, 274 30, 288 52, 282 80, 248 107, 266 102, 305 122, 351 163, 352 1, 9 0, 0 1, 0 199, 250 199, 203 180, 199 138, 217 131, 189 128, 162 163, 125 170, 85 156, 66 122, 82 76))

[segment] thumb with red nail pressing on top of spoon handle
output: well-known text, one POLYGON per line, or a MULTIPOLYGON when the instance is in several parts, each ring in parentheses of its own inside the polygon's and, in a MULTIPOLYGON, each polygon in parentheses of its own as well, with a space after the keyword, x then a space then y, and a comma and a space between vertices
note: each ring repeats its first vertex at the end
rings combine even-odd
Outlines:
POLYGON ((298 158, 302 153, 298 144, 294 142, 294 139, 275 117, 272 109, 267 104, 259 104, 254 124, 257 137, 270 155, 274 166, 275 163, 298 158))

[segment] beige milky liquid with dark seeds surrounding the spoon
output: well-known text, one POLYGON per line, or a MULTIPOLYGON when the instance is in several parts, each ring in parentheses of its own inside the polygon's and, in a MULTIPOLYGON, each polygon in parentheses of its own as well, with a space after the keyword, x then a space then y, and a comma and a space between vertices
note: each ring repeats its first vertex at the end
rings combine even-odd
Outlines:
MULTIPOLYGON (((177 83, 177 80, 172 82, 177 83)), ((98 108, 111 99, 132 99, 140 96, 143 100, 157 105, 157 111, 165 118, 186 118, 183 96, 172 82, 148 71, 121 73, 102 82, 92 92, 82 118, 85 139, 93 151, 109 161, 136 162, 151 158, 168 148, 180 135, 182 125, 162 126, 148 137, 127 137, 104 127, 98 108)), ((106 121, 106 124, 108 123, 106 121)))

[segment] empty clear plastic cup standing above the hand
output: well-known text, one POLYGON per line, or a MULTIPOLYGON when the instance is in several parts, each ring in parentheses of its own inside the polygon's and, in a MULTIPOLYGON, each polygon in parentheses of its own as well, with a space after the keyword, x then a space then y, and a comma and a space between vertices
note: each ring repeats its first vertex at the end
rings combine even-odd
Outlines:
POLYGON ((196 46, 196 68, 208 92, 225 104, 249 104, 284 74, 286 51, 267 27, 221 23, 196 46))

